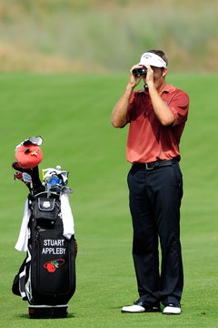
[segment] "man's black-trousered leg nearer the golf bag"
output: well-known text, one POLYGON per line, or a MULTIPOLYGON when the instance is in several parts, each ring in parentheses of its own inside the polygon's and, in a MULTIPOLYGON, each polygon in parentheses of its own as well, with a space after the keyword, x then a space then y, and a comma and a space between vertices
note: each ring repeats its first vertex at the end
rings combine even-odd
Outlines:
POLYGON ((146 188, 145 170, 131 169, 129 201, 134 227, 133 258, 140 302, 159 303, 158 236, 146 188))

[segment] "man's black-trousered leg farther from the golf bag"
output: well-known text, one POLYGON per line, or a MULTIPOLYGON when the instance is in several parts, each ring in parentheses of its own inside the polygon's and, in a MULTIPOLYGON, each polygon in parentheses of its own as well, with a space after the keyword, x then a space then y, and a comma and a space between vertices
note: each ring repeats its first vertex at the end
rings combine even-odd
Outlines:
POLYGON ((183 179, 178 164, 149 175, 157 229, 162 248, 160 300, 180 304, 183 292, 183 261, 180 243, 180 206, 183 179))

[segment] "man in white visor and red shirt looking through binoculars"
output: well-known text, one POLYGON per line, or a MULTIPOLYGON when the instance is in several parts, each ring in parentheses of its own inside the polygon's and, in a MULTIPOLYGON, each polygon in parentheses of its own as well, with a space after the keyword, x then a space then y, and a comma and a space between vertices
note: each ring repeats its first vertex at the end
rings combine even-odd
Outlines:
POLYGON ((133 220, 133 258, 139 299, 123 313, 181 313, 183 261, 180 206, 183 177, 179 142, 187 120, 189 97, 167 85, 167 58, 150 50, 134 65, 124 94, 114 106, 112 124, 129 124, 126 157, 129 204, 133 220), (134 69, 145 68, 144 75, 134 69), (134 91, 141 80, 144 89, 134 91), (159 273, 158 242, 162 263, 159 273))

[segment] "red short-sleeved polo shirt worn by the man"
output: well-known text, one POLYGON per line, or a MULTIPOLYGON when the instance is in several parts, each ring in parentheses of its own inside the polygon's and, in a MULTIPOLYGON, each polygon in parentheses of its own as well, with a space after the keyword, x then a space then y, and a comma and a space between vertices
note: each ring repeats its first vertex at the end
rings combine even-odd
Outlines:
POLYGON ((169 85, 161 94, 174 116, 172 126, 163 127, 154 114, 149 93, 134 91, 128 108, 126 159, 146 163, 159 159, 180 159, 179 142, 189 109, 189 97, 183 90, 169 85))

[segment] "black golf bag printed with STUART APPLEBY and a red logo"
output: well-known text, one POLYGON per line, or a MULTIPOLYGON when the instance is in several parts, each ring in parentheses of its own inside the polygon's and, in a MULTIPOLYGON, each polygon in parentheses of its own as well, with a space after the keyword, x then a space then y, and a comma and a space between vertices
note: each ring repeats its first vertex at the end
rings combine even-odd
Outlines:
MULTIPOLYGON (((19 169, 17 163, 13 167, 19 169)), ((27 185, 31 192, 25 202, 25 223, 24 219, 22 223, 26 224, 26 257, 15 276, 12 291, 28 301, 30 318, 66 317, 68 302, 75 291, 77 252, 74 233, 66 233, 65 228, 68 218, 64 219, 64 206, 69 210, 70 189, 53 183, 47 190, 38 178, 38 168, 28 173, 35 189, 27 185)), ((56 178, 57 170, 54 173, 56 178)), ((54 179, 53 174, 51 178, 54 179)), ((61 175, 58 179, 60 182, 61 175)), ((19 238, 22 234, 20 231, 19 238)))

